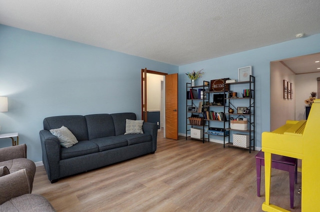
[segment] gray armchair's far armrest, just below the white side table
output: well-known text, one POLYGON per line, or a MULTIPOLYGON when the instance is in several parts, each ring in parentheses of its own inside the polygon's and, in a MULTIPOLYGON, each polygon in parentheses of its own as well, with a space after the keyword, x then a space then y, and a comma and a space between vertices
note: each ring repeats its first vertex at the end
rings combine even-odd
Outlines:
POLYGON ((26 158, 25 144, 20 144, 12 147, 3 147, 0 149, 0 162, 17 158, 26 158))

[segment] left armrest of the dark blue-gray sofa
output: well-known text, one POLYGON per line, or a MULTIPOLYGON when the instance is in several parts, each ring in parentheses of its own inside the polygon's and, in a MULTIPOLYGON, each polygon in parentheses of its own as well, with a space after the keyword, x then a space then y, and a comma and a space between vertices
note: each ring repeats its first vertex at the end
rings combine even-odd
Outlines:
POLYGON ((58 138, 48 130, 39 132, 42 163, 50 181, 59 178, 59 161, 61 159, 61 145, 58 138))

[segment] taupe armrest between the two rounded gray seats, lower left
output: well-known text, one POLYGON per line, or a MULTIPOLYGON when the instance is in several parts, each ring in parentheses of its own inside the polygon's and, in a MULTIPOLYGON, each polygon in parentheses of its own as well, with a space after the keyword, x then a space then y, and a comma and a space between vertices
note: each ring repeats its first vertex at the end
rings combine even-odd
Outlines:
POLYGON ((31 193, 25 169, 0 177, 0 188, 0 205, 12 198, 31 193))

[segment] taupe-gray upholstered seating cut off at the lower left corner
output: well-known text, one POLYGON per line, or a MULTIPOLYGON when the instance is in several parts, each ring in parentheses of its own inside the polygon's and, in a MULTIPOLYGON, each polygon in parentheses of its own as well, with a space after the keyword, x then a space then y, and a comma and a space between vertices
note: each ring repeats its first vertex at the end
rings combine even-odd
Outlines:
POLYGON ((0 212, 55 212, 44 197, 31 194, 34 174, 25 144, 0 149, 0 212))

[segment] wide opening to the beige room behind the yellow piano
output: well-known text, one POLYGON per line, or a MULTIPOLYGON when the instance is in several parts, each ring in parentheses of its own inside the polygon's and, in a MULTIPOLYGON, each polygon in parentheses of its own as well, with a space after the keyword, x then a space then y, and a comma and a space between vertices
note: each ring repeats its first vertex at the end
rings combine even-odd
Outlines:
POLYGON ((286 120, 306 119, 304 100, 310 92, 319 91, 320 63, 316 62, 319 60, 320 53, 314 53, 270 62, 270 131, 284 125, 286 120), (290 98, 283 97, 283 80, 292 85, 290 98))

